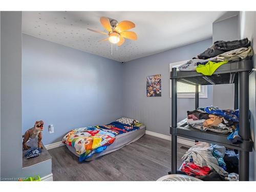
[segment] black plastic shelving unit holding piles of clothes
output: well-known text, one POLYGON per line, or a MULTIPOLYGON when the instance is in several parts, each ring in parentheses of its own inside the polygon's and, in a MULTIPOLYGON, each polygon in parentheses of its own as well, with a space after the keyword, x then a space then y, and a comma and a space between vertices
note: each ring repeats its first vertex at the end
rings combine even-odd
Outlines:
POLYGON ((220 66, 211 76, 204 76, 196 71, 170 72, 172 80, 172 174, 177 173, 177 136, 223 145, 239 151, 239 180, 249 180, 249 152, 253 142, 250 139, 249 127, 249 74, 253 68, 252 60, 228 62, 220 66), (232 144, 226 134, 200 131, 190 127, 184 121, 177 123, 177 81, 196 86, 195 109, 199 107, 199 86, 234 83, 234 109, 239 109, 239 134, 243 140, 240 144, 232 144))

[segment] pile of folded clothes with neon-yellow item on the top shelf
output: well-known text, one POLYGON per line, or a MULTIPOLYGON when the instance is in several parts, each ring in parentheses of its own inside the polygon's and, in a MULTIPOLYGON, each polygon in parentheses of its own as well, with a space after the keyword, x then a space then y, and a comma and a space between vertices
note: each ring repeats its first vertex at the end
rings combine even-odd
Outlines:
POLYGON ((212 75, 221 65, 249 58, 253 55, 248 38, 233 41, 216 41, 214 45, 197 57, 179 67, 180 71, 197 71, 203 75, 212 75))

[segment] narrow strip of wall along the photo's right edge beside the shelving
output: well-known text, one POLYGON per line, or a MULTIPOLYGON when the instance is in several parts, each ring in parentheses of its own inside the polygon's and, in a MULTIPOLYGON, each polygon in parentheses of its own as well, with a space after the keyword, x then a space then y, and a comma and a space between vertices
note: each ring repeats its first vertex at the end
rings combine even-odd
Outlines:
MULTIPOLYGON (((251 40, 251 46, 253 48, 254 54, 256 53, 256 12, 243 11, 240 12, 240 35, 241 38, 248 37, 251 40)), ((256 68, 255 55, 253 57, 254 68, 256 68)), ((249 77, 249 105, 250 105, 250 131, 251 137, 254 141, 254 152, 250 153, 250 180, 256 180, 256 75, 255 71, 250 74, 249 77)))

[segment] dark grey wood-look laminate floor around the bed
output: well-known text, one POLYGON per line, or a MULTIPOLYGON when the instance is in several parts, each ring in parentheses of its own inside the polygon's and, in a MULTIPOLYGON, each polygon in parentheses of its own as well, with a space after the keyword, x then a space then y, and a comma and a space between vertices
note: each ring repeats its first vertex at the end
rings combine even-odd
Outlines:
MULTIPOLYGON (((187 146, 178 144, 178 167, 187 146)), ((170 141, 150 135, 90 162, 66 146, 49 150, 54 181, 155 181, 170 170, 170 141)))

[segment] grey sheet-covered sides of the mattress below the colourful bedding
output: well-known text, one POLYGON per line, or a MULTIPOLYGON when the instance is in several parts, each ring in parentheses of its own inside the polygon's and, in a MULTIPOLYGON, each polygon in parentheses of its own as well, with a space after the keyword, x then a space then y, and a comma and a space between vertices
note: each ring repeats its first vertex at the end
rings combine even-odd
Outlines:
MULTIPOLYGON (((117 135, 114 143, 112 143, 111 145, 106 147, 106 150, 104 150, 101 153, 93 154, 90 158, 86 159, 86 161, 91 161, 91 160, 94 160, 103 155, 117 151, 117 150, 119 150, 119 148, 121 148, 127 144, 130 144, 134 141, 137 141, 139 138, 141 138, 143 135, 145 135, 145 133, 146 133, 146 126, 142 125, 142 126, 140 126, 140 129, 137 131, 132 131, 132 132, 124 133, 121 135, 117 135)), ((76 153, 74 147, 69 146, 69 145, 66 145, 66 146, 68 147, 69 151, 71 151, 74 155, 79 157, 79 155, 76 153)))

